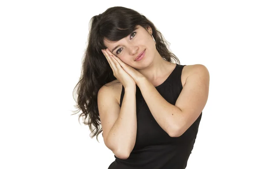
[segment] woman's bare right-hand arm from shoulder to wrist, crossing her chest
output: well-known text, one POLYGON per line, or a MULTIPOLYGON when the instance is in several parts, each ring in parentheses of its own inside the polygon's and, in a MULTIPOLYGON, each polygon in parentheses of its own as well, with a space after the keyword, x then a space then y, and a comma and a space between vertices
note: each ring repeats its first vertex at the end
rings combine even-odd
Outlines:
POLYGON ((186 132, 199 117, 208 99, 208 69, 200 64, 188 68, 189 75, 175 105, 167 102, 146 78, 138 84, 151 114, 171 137, 180 137, 186 132))

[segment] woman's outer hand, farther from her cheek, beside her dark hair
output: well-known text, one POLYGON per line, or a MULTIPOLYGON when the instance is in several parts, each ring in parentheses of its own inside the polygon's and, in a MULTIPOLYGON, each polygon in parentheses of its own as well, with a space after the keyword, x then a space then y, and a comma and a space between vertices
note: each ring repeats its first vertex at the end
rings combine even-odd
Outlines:
POLYGON ((119 82, 122 83, 124 88, 128 86, 135 87, 136 83, 134 79, 127 72, 125 72, 124 69, 122 69, 122 67, 120 66, 120 64, 116 61, 116 59, 113 58, 116 56, 114 56, 110 51, 107 52, 107 50, 105 49, 102 49, 102 53, 108 60, 108 63, 111 69, 113 70, 113 75, 116 77, 117 80, 119 80, 119 82))

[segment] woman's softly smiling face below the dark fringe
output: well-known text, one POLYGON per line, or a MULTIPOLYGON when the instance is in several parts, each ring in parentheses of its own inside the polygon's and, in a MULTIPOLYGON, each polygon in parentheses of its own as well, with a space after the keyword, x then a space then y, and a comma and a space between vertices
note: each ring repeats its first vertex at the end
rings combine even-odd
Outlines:
POLYGON ((151 37, 152 29, 149 26, 144 29, 142 26, 137 26, 134 32, 127 37, 122 38, 117 42, 104 40, 105 46, 124 63, 134 68, 145 67, 150 64, 156 52, 156 46, 151 37), (144 57, 136 61, 135 58, 145 51, 144 57))

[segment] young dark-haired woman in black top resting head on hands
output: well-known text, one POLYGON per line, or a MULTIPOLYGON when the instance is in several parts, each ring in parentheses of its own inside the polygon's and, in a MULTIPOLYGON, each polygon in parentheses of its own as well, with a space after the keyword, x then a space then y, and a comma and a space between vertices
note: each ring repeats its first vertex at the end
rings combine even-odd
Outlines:
POLYGON ((209 72, 201 64, 180 65, 145 16, 112 7, 92 18, 76 86, 79 118, 88 117, 92 137, 102 132, 116 158, 108 169, 186 168, 209 72))

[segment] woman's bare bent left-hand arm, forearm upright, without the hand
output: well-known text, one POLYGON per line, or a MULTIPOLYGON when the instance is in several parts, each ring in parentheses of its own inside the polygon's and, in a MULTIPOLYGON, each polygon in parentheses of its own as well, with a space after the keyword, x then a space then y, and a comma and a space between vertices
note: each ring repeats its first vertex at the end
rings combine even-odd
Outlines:
POLYGON ((113 97, 111 88, 108 92, 98 93, 99 114, 105 145, 116 157, 126 159, 135 145, 137 134, 136 87, 125 88, 125 95, 120 108, 113 97), (111 94, 112 93, 112 94, 111 94), (111 97, 107 97, 111 95, 111 97))

